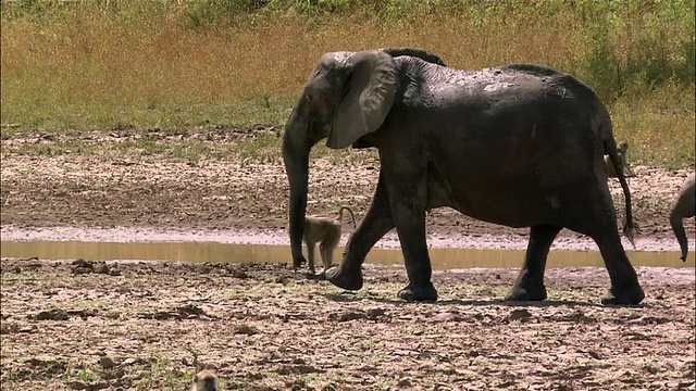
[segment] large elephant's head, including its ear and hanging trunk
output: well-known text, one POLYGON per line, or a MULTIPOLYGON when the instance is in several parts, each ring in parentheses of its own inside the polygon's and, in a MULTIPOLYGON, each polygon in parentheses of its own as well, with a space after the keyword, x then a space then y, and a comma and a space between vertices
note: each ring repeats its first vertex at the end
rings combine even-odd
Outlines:
POLYGON ((396 63, 382 50, 326 53, 312 71, 283 137, 295 266, 303 261, 310 149, 324 137, 328 148, 346 148, 378 129, 391 109, 396 88, 396 63))

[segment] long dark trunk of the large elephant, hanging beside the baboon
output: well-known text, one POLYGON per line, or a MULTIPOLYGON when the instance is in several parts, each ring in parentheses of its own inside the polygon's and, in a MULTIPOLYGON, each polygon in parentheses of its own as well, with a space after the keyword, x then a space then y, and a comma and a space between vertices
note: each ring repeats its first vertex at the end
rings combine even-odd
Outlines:
POLYGON ((295 267, 298 267, 303 261, 302 235, 304 234, 304 214, 307 212, 309 151, 312 147, 307 137, 309 123, 300 118, 296 106, 293 111, 283 136, 283 161, 290 185, 288 231, 295 267))

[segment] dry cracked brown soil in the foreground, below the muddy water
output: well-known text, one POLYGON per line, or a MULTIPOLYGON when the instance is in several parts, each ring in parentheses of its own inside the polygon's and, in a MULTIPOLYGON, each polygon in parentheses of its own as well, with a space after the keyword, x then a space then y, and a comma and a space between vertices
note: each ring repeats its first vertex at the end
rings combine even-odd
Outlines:
POLYGON ((402 269, 341 291, 284 265, 3 260, 3 390, 694 390, 693 269, 547 272, 549 300, 499 300, 513 269, 437 273, 440 301, 395 300, 402 269))

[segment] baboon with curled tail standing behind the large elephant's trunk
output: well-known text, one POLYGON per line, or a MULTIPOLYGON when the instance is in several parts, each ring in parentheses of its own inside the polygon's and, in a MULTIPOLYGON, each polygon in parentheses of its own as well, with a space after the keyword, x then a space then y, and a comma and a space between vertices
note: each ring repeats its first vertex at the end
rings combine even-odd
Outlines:
POLYGON ((352 228, 356 229, 356 216, 348 206, 341 206, 338 210, 338 217, 336 219, 314 216, 304 217, 304 235, 302 240, 304 244, 307 244, 307 262, 309 263, 309 270, 312 275, 316 273, 314 269, 314 247, 316 243, 319 243, 319 254, 324 264, 321 276, 333 266, 334 250, 338 247, 338 241, 340 240, 340 225, 344 219, 344 210, 350 213, 352 228))

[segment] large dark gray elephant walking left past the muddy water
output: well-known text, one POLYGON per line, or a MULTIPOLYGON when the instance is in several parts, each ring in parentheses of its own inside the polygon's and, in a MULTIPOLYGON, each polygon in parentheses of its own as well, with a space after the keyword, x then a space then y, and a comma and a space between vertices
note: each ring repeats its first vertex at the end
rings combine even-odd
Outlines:
MULTIPOLYGON (((333 149, 376 148, 381 161, 372 205, 340 265, 326 273, 335 286, 361 289, 365 255, 396 228, 409 279, 398 297, 437 300, 425 213, 450 206, 485 222, 531 227, 508 300, 546 299, 546 257, 558 232, 569 228, 599 247, 611 280, 602 303, 639 303, 645 295, 621 244, 604 165, 606 153, 619 166, 617 144, 595 92, 544 66, 460 71, 435 58, 406 49, 321 58, 283 138, 294 264, 304 262, 309 152, 327 138, 333 149)), ((618 172, 631 238, 631 194, 618 172)))

